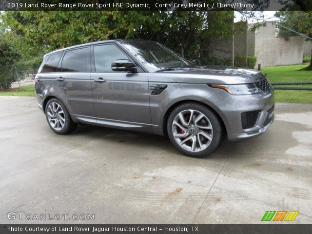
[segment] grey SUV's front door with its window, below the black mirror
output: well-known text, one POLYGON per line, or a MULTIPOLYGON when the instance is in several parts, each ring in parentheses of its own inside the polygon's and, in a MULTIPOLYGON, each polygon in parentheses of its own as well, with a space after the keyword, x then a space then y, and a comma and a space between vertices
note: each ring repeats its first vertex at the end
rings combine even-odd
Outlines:
POLYGON ((129 59, 115 43, 94 45, 92 52, 92 94, 97 123, 148 131, 151 128, 148 76, 138 67, 137 73, 114 72, 117 59, 129 59))

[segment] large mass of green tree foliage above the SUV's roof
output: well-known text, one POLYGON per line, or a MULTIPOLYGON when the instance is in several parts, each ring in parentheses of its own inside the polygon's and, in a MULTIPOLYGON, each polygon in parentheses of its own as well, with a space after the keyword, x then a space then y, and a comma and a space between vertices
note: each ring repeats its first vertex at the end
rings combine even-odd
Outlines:
MULTIPOLYGON (((208 56, 209 37, 233 33, 231 11, 6 11, 6 32, 28 57, 85 42, 151 39, 186 59, 208 56)), ((28 60, 23 59, 23 60, 28 60)))

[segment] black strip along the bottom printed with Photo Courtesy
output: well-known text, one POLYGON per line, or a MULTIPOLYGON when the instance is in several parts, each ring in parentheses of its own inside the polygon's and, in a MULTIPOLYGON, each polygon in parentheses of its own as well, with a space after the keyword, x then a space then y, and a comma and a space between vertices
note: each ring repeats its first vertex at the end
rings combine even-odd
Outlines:
POLYGON ((1 234, 310 234, 312 224, 0 224, 1 234), (28 230, 28 231, 27 231, 28 230), (30 231, 31 230, 31 231, 30 231))

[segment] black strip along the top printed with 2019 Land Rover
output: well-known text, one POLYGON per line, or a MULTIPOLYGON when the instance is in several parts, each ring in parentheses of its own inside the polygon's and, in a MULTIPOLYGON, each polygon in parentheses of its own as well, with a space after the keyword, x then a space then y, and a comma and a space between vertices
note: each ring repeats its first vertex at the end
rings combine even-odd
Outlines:
POLYGON ((310 8, 309 1, 298 0, 0 0, 1 11, 277 11, 310 8))

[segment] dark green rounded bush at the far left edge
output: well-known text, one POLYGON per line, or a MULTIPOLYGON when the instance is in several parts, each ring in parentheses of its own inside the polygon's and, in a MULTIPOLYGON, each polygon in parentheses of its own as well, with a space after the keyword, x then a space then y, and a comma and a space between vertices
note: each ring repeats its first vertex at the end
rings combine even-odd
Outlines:
POLYGON ((20 51, 9 40, 0 37, 0 88, 8 89, 16 79, 15 68, 12 66, 20 58, 20 51))

